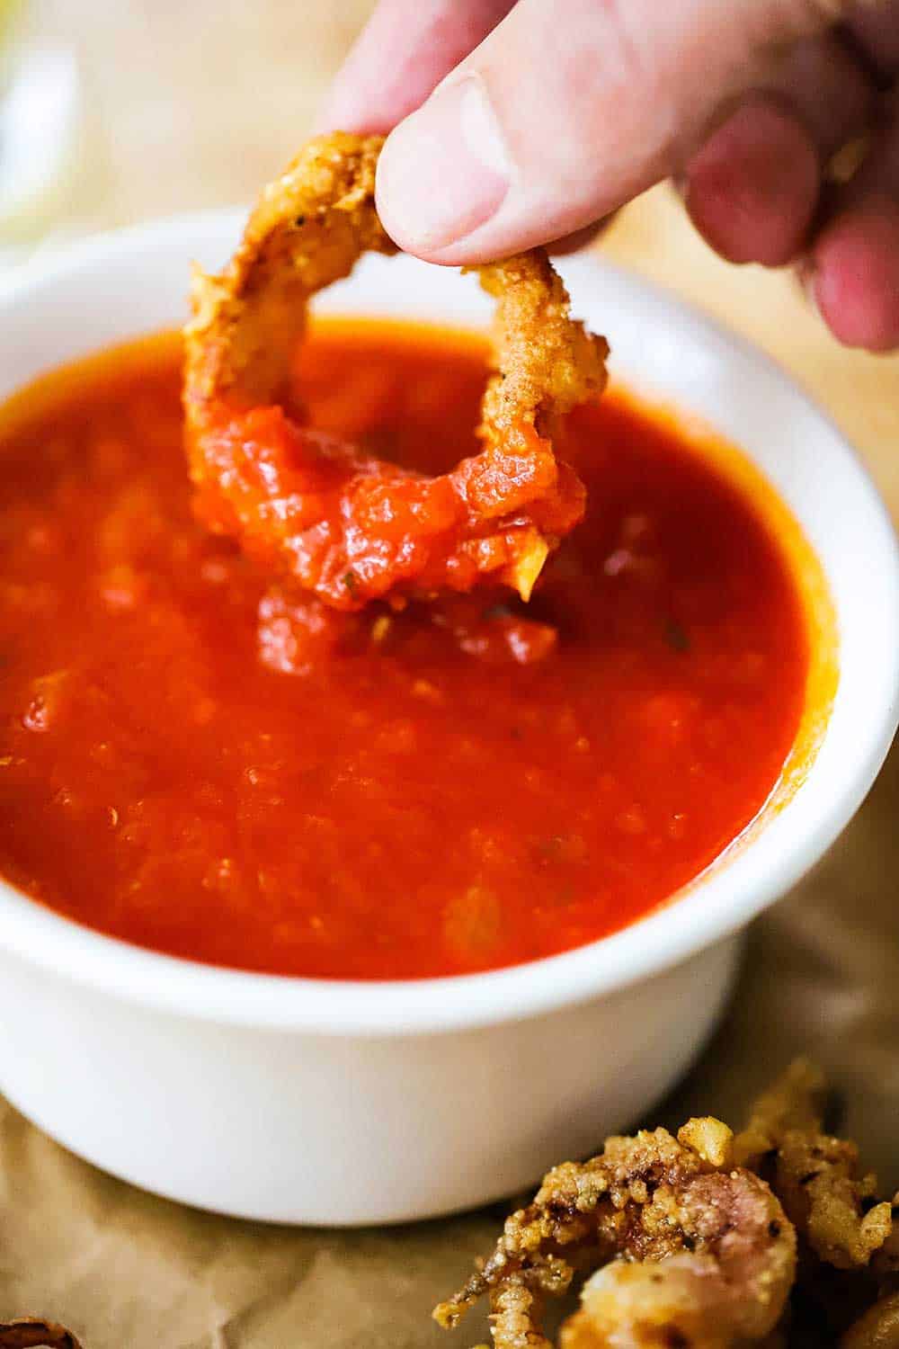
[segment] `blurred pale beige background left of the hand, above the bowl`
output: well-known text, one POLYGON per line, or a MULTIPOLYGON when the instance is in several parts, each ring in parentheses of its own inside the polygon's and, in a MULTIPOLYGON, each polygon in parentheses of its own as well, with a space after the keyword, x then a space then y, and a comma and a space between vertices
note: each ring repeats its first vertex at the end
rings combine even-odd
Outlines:
MULTIPOLYGON (((81 124, 75 162, 61 166, 67 181, 32 204, 19 232, 38 223, 84 231, 252 198, 306 135, 371 8, 368 0, 0 0, 4 66, 12 65, 5 86, 16 65, 26 71, 51 53, 70 55, 80 84, 71 120, 59 127, 62 140, 75 116, 81 124)), ((51 120, 53 101, 54 90, 39 90, 38 120, 51 120)))

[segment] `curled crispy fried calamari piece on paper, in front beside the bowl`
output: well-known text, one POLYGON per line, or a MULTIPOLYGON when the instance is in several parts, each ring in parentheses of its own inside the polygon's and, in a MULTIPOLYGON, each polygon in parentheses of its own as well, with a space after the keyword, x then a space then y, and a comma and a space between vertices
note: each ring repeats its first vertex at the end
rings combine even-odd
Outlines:
POLYGON ((563 1349, 763 1340, 793 1286, 795 1233, 768 1186, 732 1167, 731 1140, 720 1121, 691 1120, 677 1139, 608 1139, 590 1161, 555 1167, 435 1319, 453 1327, 489 1292, 496 1349, 545 1349, 545 1296, 600 1267, 563 1349))

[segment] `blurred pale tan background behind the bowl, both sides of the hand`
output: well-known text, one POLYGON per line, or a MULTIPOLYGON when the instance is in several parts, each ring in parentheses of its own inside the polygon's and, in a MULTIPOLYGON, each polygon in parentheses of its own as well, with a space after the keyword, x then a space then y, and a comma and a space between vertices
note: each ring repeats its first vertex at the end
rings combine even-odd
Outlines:
MULTIPOLYGON (((71 236, 249 202, 307 135, 372 5, 0 0, 0 277, 71 236)), ((667 186, 601 247, 797 372, 899 513, 899 360, 841 351, 791 274, 718 262, 667 186)))

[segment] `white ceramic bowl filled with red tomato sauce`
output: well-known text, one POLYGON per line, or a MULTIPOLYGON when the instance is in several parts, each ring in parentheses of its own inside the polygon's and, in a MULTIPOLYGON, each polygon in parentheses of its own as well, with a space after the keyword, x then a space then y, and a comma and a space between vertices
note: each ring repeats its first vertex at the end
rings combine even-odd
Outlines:
MULTIPOLYGON (((90 240, 0 291, 0 397, 183 316, 187 263, 240 217, 90 240)), ((577 951, 465 978, 319 982, 217 970, 78 927, 0 884, 0 1086, 140 1186, 288 1222, 390 1222, 532 1182, 642 1116, 709 1032, 739 932, 859 807, 896 726, 899 569, 888 518, 830 422, 766 359, 635 277, 582 259, 576 308, 613 370, 755 459, 805 527, 841 674, 807 780, 675 904, 577 951)), ((481 324, 469 278, 365 259, 322 309, 481 324)), ((735 747, 735 751, 737 747, 735 747)))

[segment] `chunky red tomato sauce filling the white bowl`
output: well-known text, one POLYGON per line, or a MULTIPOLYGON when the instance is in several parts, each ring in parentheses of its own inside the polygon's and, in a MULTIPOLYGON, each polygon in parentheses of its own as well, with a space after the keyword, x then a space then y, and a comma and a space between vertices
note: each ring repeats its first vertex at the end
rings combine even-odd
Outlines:
MULTIPOLYGON (((473 452, 476 339, 333 321, 321 432, 473 452)), ((174 343, 111 352, 0 429, 0 871, 125 940, 326 978, 590 942, 757 813, 803 710, 779 542, 620 394, 569 418, 586 519, 509 592, 336 612, 191 514, 174 343)))

